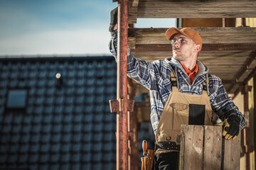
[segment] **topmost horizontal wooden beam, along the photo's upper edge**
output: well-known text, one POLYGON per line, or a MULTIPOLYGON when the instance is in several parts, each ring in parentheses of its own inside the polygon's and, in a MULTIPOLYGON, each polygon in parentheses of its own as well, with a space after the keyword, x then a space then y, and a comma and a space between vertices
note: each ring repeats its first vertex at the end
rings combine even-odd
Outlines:
POLYGON ((256 1, 140 0, 138 18, 254 18, 256 1))

